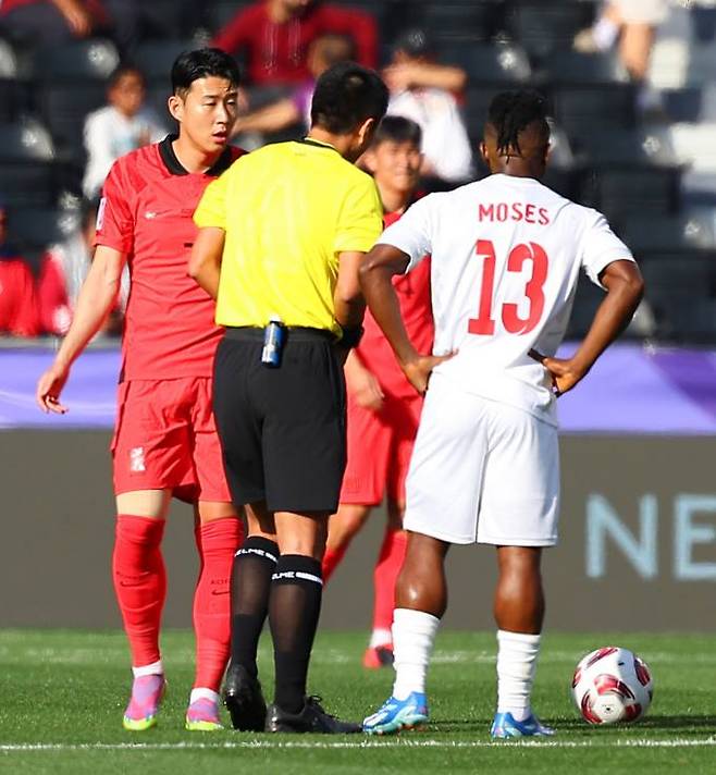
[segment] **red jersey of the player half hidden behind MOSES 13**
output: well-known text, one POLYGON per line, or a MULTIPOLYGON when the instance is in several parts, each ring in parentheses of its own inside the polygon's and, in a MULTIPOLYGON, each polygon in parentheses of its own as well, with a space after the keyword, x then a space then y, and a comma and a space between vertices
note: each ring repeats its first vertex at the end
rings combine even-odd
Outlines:
MULTIPOLYGON (((383 221, 390 226, 398 218, 400 213, 388 212, 383 221)), ((434 325, 430 297, 430 258, 408 274, 393 278, 393 286, 398 295, 400 315, 410 341, 419 353, 431 353, 434 325)), ((375 374, 381 388, 391 395, 415 395, 415 388, 405 378, 391 345, 370 310, 366 311, 363 328, 366 332, 358 346, 358 355, 366 368, 375 374)))

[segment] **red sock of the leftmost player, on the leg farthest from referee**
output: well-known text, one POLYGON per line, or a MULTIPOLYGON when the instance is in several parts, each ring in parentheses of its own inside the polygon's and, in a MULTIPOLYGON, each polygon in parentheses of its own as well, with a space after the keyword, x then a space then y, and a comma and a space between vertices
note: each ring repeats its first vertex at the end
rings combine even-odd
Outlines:
POLYGON ((166 596, 163 534, 163 519, 127 514, 116 518, 112 577, 134 667, 160 659, 159 627, 166 596))

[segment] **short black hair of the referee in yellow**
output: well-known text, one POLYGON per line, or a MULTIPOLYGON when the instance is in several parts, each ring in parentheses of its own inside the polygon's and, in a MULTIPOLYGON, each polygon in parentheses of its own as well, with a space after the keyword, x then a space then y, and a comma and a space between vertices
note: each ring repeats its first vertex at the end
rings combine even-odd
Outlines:
POLYGON ((387 109, 387 87, 373 70, 340 62, 321 74, 311 103, 311 125, 345 135, 366 119, 380 121, 387 109))

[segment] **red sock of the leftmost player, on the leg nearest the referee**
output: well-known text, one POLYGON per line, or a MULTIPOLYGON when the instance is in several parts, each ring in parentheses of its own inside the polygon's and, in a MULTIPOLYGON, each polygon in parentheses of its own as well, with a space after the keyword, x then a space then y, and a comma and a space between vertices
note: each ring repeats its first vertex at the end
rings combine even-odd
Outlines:
POLYGON ((231 568, 244 536, 240 521, 233 517, 206 522, 196 533, 201 569, 194 594, 194 688, 218 691, 230 653, 231 568))

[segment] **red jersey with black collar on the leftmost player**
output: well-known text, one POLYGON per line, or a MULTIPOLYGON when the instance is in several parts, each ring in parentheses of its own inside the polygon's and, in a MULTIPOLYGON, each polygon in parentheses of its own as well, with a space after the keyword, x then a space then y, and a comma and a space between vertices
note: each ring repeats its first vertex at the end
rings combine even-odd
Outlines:
POLYGON ((124 380, 211 377, 221 329, 214 302, 188 276, 203 189, 244 151, 229 147, 207 173, 188 173, 174 136, 118 159, 102 192, 96 245, 128 256, 124 380))

